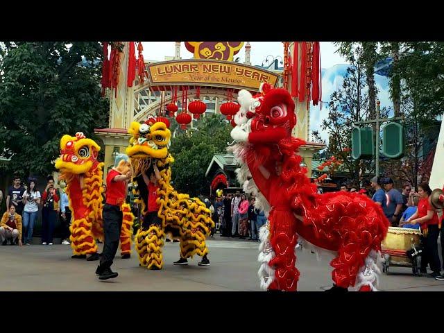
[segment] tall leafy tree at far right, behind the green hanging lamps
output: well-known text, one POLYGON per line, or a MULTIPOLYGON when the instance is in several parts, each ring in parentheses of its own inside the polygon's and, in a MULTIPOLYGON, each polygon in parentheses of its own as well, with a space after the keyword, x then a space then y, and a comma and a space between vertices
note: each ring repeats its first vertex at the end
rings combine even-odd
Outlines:
POLYGON ((417 186, 427 180, 436 145, 434 121, 443 112, 444 44, 440 42, 382 42, 383 57, 392 57, 388 73, 395 116, 404 115, 407 145, 402 160, 387 160, 388 176, 417 186))

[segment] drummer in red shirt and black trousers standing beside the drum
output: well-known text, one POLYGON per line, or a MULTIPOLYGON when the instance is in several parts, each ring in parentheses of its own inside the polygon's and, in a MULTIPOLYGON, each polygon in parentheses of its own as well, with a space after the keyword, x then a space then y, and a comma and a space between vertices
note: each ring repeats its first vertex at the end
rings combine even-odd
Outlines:
POLYGON ((420 273, 426 274, 427 264, 430 264, 432 273, 427 276, 429 278, 436 278, 437 276, 441 276, 441 262, 438 255, 438 214, 436 213, 436 209, 429 203, 429 196, 432 194, 432 189, 430 189, 427 182, 419 185, 418 194, 421 198, 418 203, 418 210, 407 220, 407 223, 420 223, 422 233, 424 234, 422 244, 425 251, 422 251, 421 255, 420 273))

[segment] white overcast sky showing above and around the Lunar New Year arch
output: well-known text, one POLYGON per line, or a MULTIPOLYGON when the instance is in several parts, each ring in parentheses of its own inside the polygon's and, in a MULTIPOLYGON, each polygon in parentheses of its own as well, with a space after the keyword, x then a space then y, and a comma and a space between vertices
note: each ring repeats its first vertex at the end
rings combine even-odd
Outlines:
MULTIPOLYGON (((175 42, 142 42, 144 46, 145 60, 164 60, 165 56, 174 56, 175 42)), ((282 42, 250 42, 250 61, 252 65, 262 65, 268 55, 277 57, 283 56, 284 46, 282 42)), ((245 44, 244 44, 245 45, 245 44)), ((321 66, 329 68, 337 64, 347 63, 344 58, 335 53, 336 47, 332 42, 321 42, 321 66)), ((192 58, 193 55, 185 49, 185 43, 180 44, 180 56, 182 59, 192 58)), ((237 53, 234 58, 240 58, 240 62, 245 60, 245 47, 237 53)), ((270 60, 271 57, 268 57, 270 60)), ((268 64, 267 64, 268 65, 268 64)))

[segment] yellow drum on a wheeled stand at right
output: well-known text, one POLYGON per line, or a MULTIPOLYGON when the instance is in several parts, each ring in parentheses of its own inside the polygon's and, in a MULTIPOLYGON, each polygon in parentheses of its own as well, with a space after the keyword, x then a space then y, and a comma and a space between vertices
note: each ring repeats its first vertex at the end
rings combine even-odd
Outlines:
POLYGON ((388 227, 387 237, 381 243, 382 253, 390 255, 391 264, 409 265, 406 251, 412 245, 420 245, 420 236, 418 229, 388 227))

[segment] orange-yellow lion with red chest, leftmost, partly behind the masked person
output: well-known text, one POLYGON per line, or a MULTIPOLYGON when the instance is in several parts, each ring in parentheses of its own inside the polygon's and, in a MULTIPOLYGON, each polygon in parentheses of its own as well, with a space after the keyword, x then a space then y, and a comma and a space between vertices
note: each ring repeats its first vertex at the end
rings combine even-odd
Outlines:
MULTIPOLYGON (((100 146, 83 133, 75 137, 64 135, 60 139, 60 157, 56 169, 61 172, 60 179, 67 183, 66 192, 73 221, 69 227, 73 259, 98 260, 96 239, 103 239, 102 192, 103 163, 97 161, 100 146)), ((121 228, 121 255, 130 255, 130 228, 133 216, 130 206, 122 205, 124 214, 121 228)))

